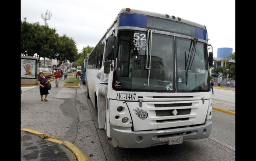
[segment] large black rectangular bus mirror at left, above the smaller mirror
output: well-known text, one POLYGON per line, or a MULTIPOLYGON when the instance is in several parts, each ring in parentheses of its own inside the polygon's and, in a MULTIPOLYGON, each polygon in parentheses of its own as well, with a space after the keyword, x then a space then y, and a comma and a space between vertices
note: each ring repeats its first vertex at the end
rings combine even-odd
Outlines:
POLYGON ((107 40, 105 60, 115 60, 118 47, 118 37, 110 36, 107 40))

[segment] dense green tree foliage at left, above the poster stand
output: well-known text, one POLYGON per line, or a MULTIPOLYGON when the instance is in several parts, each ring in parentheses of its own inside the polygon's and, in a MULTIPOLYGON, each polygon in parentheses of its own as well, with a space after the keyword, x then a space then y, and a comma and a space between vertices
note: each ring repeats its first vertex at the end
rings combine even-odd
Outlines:
POLYGON ((21 55, 59 60, 57 67, 65 61, 75 61, 78 57, 75 41, 66 35, 60 37, 56 29, 37 23, 21 21, 21 55))

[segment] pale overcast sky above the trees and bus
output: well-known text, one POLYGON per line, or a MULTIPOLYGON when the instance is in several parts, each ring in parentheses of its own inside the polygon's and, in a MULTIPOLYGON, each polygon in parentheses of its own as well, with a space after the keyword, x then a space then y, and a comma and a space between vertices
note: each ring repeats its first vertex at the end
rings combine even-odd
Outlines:
POLYGON ((47 21, 60 36, 73 38, 78 52, 95 46, 123 8, 173 15, 205 25, 208 43, 217 57, 220 47, 235 52, 235 0, 21 0, 21 21, 45 25, 41 14, 52 14, 47 21))

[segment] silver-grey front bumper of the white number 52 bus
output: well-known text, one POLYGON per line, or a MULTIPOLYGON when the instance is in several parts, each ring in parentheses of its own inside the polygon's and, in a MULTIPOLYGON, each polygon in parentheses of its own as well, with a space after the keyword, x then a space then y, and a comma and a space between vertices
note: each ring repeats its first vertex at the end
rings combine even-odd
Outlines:
POLYGON ((120 127, 110 124, 109 144, 123 148, 146 148, 168 144, 169 138, 183 136, 183 141, 209 137, 211 119, 204 124, 192 127, 172 128, 164 130, 132 131, 131 127, 120 127))

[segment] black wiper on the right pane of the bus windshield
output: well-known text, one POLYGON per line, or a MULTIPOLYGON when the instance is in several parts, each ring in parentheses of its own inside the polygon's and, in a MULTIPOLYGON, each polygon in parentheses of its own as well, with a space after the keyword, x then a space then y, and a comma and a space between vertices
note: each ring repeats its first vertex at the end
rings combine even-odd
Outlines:
POLYGON ((186 54, 186 51, 185 51, 186 85, 188 85, 188 71, 191 70, 192 63, 193 63, 193 60, 194 60, 194 57, 195 57, 197 40, 198 40, 197 38, 194 38, 194 40, 191 40, 190 47, 189 47, 188 58, 187 58, 187 54, 186 54), (191 48, 191 46, 192 46, 192 48, 191 48), (191 50, 191 52, 190 52, 190 50, 191 50))

